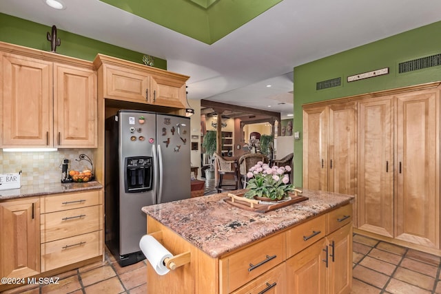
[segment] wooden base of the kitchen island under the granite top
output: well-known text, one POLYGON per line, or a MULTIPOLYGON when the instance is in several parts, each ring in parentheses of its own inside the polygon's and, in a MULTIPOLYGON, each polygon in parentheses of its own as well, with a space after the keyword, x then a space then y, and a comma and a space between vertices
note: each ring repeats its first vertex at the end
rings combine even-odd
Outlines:
POLYGON ((147 264, 147 291, 157 293, 350 293, 351 204, 307 220, 242 249, 212 258, 147 216, 147 232, 161 232, 172 253, 189 264, 158 275, 147 264))

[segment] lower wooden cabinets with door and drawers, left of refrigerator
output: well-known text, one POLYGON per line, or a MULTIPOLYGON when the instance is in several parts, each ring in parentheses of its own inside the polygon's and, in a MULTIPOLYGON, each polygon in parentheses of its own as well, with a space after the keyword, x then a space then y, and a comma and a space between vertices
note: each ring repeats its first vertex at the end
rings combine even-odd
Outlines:
POLYGON ((0 202, 0 244, 0 277, 32 277, 103 255, 103 191, 0 202))

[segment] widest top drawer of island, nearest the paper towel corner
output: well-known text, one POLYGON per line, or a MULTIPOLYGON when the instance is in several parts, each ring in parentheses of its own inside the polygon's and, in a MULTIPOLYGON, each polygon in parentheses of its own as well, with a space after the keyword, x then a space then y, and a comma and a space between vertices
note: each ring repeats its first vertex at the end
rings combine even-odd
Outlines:
POLYGON ((220 271, 228 281, 228 292, 259 277, 285 260, 285 233, 234 253, 220 260, 220 271))

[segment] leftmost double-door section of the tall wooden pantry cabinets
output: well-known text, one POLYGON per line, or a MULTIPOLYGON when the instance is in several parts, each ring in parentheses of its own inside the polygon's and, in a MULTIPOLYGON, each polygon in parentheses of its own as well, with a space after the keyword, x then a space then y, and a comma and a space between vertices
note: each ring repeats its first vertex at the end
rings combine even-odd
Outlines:
POLYGON ((303 187, 356 196, 356 114, 355 102, 303 107, 303 187))

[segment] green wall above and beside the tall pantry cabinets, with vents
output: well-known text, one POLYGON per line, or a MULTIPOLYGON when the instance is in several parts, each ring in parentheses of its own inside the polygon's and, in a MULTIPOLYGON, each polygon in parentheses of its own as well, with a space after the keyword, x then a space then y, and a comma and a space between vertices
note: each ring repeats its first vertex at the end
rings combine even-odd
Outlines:
MULTIPOLYGON (((441 66, 398 74, 398 63, 441 54, 441 21, 294 67, 294 131, 302 139, 302 105, 333 98, 441 81, 441 66), (389 67, 389 74, 347 83, 347 76, 389 67), (342 85, 316 90, 316 83, 342 85)), ((326 44, 323 44, 326 45, 326 44)), ((302 187, 302 140, 294 141, 294 185, 302 187)))

